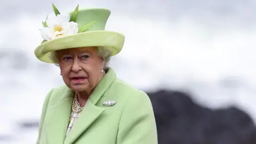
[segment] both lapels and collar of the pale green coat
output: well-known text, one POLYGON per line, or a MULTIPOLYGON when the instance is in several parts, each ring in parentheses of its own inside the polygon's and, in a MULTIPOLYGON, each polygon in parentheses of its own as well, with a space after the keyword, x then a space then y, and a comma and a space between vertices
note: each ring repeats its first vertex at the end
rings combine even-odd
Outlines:
POLYGON ((105 111, 105 108, 96 106, 99 99, 116 79, 113 69, 108 68, 106 75, 101 79, 98 86, 90 95, 75 125, 65 139, 69 124, 71 105, 74 91, 66 87, 60 100, 54 106, 49 107, 49 121, 47 122, 47 137, 50 143, 73 143, 93 122, 105 111))

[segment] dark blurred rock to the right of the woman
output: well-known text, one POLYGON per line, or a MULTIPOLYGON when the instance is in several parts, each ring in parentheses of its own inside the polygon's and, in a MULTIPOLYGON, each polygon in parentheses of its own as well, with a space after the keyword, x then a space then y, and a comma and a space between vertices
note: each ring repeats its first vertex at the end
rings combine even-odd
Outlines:
POLYGON ((244 111, 210 109, 179 91, 147 92, 152 102, 159 144, 254 144, 256 126, 244 111))

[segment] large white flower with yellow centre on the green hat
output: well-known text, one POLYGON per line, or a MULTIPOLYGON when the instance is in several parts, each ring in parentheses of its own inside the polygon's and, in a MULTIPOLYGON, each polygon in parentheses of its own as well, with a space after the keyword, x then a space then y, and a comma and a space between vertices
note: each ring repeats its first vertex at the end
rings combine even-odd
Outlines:
POLYGON ((48 15, 45 25, 47 27, 43 27, 40 31, 46 41, 78 33, 78 24, 70 21, 70 15, 68 13, 48 15))

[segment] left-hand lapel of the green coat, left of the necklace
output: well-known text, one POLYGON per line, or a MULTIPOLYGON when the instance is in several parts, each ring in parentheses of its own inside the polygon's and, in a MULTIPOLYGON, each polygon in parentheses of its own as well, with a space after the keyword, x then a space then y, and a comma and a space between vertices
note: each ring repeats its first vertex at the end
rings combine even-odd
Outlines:
POLYGON ((66 89, 61 95, 61 99, 56 105, 47 109, 49 117, 47 118, 47 137, 49 143, 63 143, 69 123, 71 105, 73 101, 73 91, 66 89))

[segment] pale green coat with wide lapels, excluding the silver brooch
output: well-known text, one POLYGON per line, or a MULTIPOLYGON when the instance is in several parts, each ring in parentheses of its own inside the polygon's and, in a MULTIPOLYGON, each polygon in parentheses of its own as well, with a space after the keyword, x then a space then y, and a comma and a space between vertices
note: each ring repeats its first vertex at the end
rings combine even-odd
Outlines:
POLYGON ((116 77, 109 68, 65 138, 74 92, 52 89, 45 98, 37 144, 156 144, 153 108, 147 94, 116 77), (107 100, 115 100, 110 107, 107 100))

